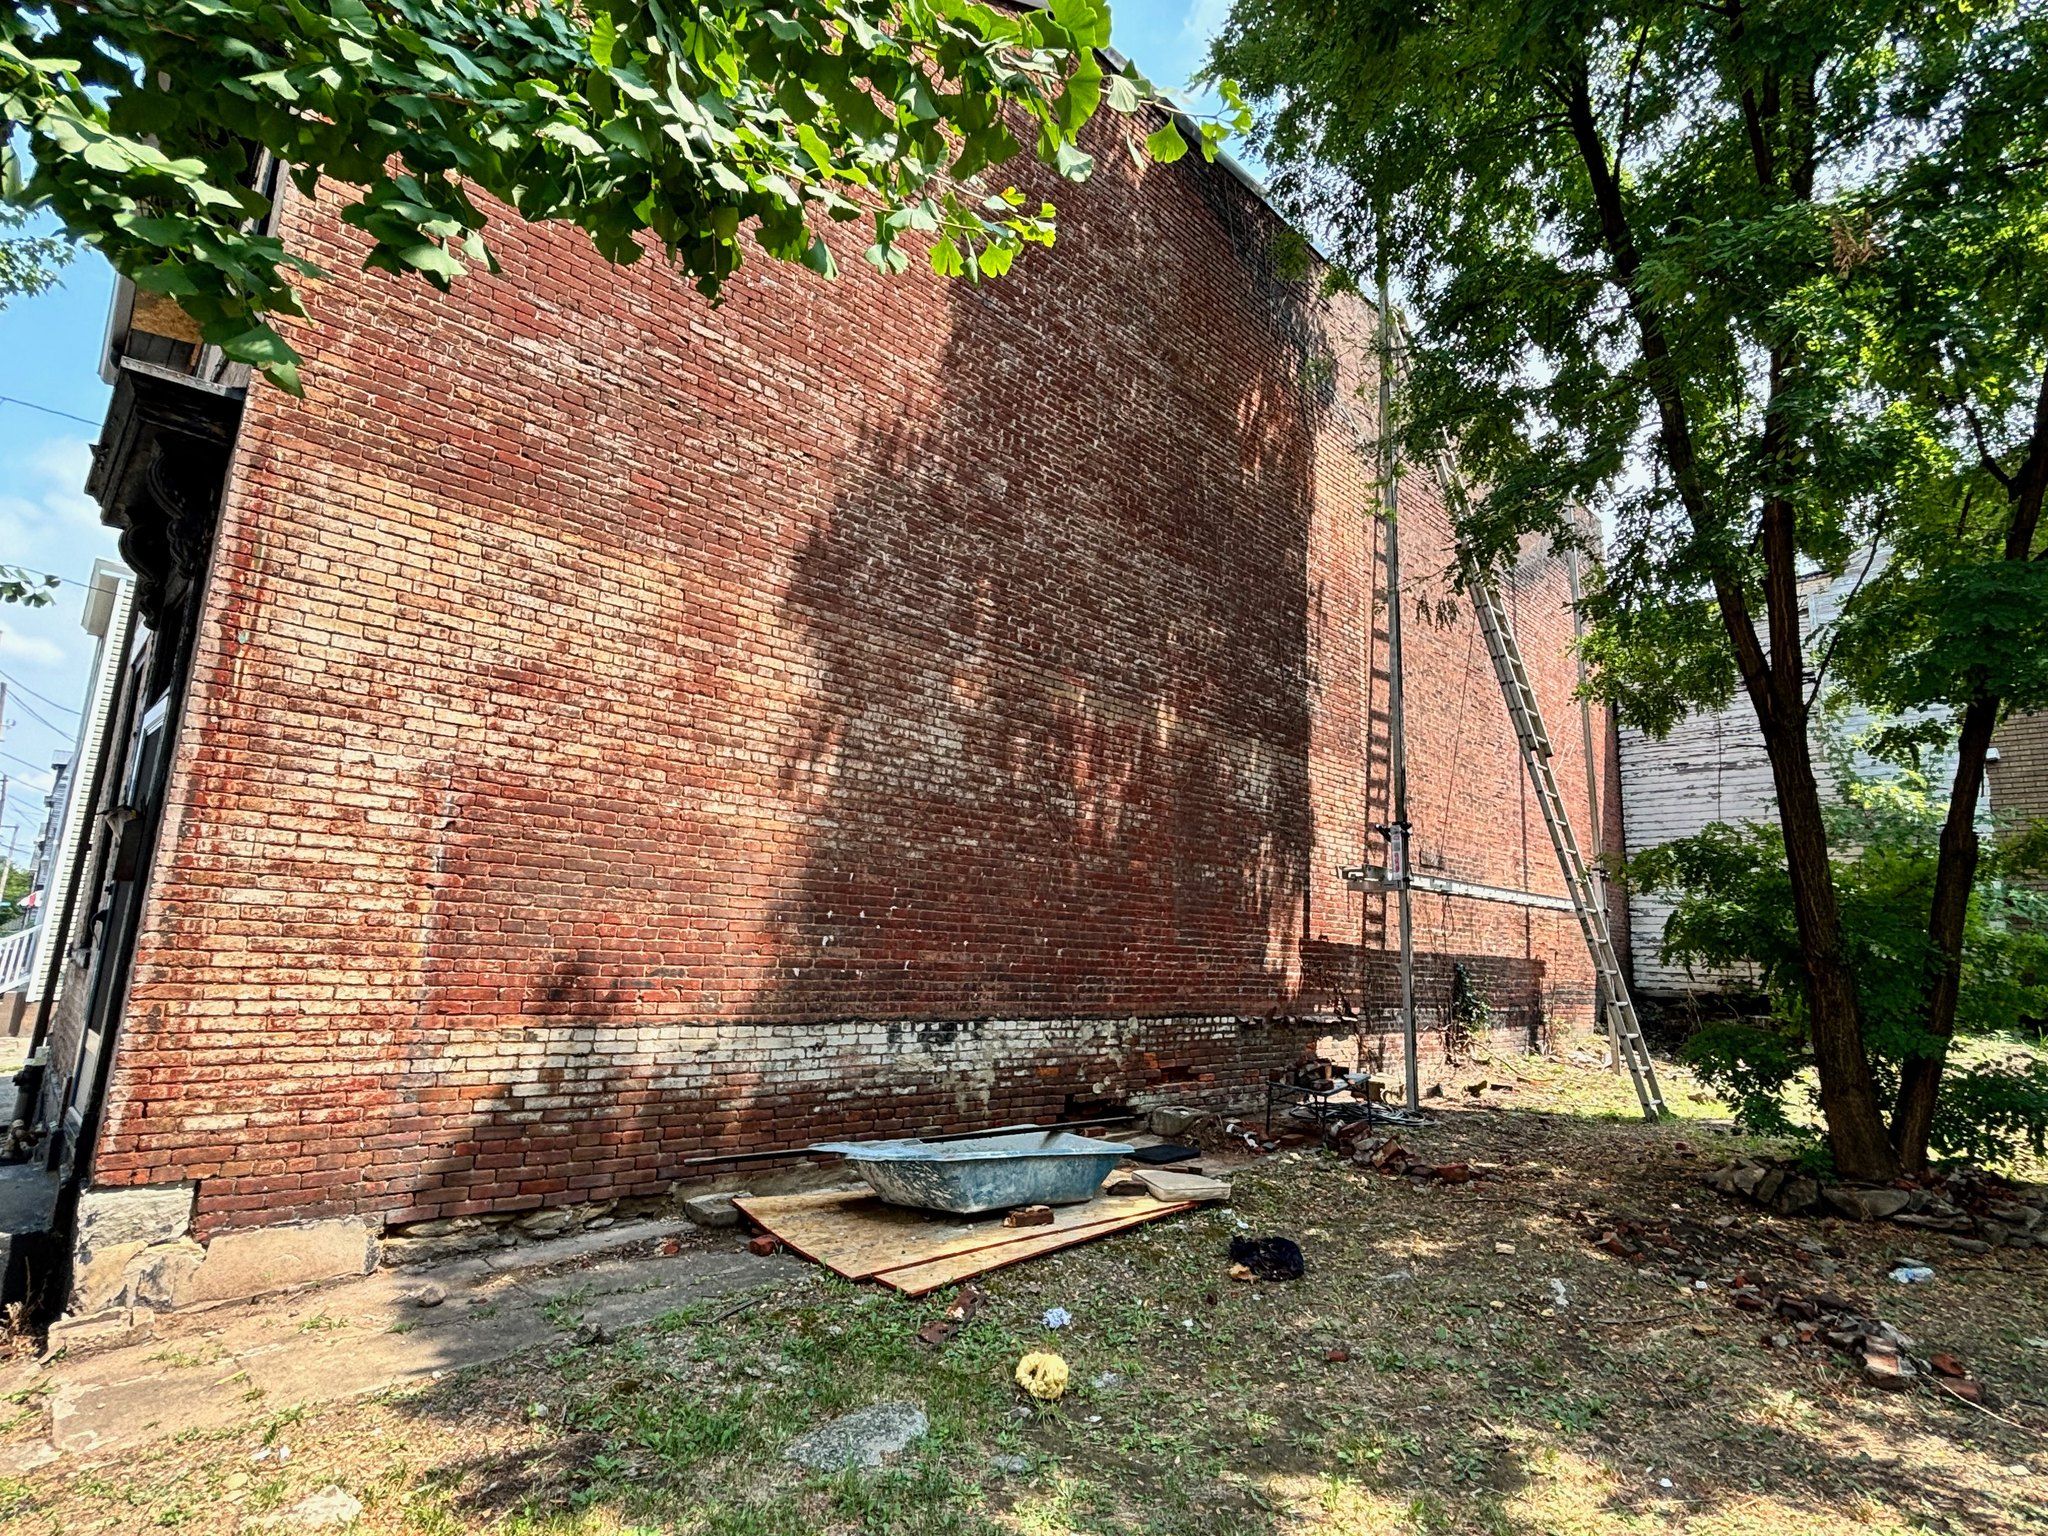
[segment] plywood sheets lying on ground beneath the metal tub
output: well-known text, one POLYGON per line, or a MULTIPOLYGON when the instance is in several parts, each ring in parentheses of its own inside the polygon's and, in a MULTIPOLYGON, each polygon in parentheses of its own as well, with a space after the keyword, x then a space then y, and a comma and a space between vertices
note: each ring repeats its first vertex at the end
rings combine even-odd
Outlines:
POLYGON ((1163 1202, 1149 1194, 1102 1196, 1061 1206, 1051 1227, 1020 1229, 1004 1227, 1001 1212, 946 1217, 891 1206, 866 1188, 745 1196, 733 1204, 807 1260, 848 1280, 879 1280, 909 1296, 1192 1210, 1190 1202, 1163 1202))

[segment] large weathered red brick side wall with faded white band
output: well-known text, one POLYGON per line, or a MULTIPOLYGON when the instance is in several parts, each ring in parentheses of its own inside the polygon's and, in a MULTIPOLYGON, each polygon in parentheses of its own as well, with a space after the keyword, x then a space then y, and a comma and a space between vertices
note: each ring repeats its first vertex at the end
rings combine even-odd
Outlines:
MULTIPOLYGON (((1102 147, 1001 283, 848 244, 719 309, 516 223, 442 299, 289 207, 336 276, 305 399, 248 406, 96 1182, 199 1180, 201 1231, 516 1210, 1225 1096, 1339 995, 1393 1028, 1337 874, 1386 817, 1370 317, 1221 168, 1102 147)), ((1403 526, 1440 592, 1421 479, 1403 526)), ((1417 862, 1561 891, 1423 596, 1417 862)), ((1577 809, 1563 567, 1516 602, 1577 809)), ((1587 1022, 1569 915, 1417 922, 1438 1016, 1468 958, 1518 1038, 1587 1022)))

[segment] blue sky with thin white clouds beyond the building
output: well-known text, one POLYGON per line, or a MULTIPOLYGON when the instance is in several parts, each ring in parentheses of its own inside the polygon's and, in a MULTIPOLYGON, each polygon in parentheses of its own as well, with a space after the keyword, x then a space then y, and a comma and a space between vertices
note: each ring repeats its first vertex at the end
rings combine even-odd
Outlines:
MULTIPOLYGON (((1227 12, 1225 0, 1118 0, 1114 41, 1151 80, 1182 86, 1227 12)), ((0 606, 0 676, 8 678, 0 852, 18 829, 16 858, 35 842, 49 762, 70 748, 92 666, 92 637, 78 625, 82 582, 94 557, 115 555, 113 530, 84 492, 106 414, 98 352, 111 293, 113 272, 84 254, 61 289, 0 309, 0 395, 29 401, 0 401, 0 565, 63 578, 47 608, 0 606)))

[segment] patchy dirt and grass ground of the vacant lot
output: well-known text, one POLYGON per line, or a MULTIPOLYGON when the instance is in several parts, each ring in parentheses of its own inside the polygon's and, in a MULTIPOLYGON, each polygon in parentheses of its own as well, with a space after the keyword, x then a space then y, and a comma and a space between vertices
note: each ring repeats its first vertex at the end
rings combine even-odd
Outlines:
MULTIPOLYGON (((819 1272, 616 1337, 569 1290, 545 1354, 303 1415, 252 1401, 225 1430, 63 1460, 0 1481, 0 1528, 289 1530, 338 1487, 358 1532, 2048 1530, 2048 1251, 1735 1204, 1700 1171, 1745 1143, 1667 1071, 1681 1116, 1647 1126, 1597 1067, 1475 1063, 1466 1081, 1507 1090, 1454 1087, 1401 1139, 1497 1176, 1280 1153, 1235 1169, 1231 1210, 985 1276, 940 1348, 915 1335, 948 1292, 819 1272), (1673 1233, 1683 1260, 1647 1274, 1602 1251, 1616 1221, 1673 1233), (1243 1229, 1298 1239, 1307 1276, 1231 1282, 1243 1229), (1905 1257, 1937 1278, 1892 1284, 1905 1257), (1855 1296, 1964 1360, 1991 1411, 1866 1384, 1733 1307, 1737 1272, 1855 1296), (1051 1307, 1071 1325, 1049 1329, 1051 1307), (1026 1350, 1065 1356, 1063 1401, 1020 1395, 1026 1350), (784 1460, 797 1434, 883 1401, 930 1415, 895 1464, 784 1460)), ((6 1411, 0 1434, 29 1434, 35 1391, 6 1411)))

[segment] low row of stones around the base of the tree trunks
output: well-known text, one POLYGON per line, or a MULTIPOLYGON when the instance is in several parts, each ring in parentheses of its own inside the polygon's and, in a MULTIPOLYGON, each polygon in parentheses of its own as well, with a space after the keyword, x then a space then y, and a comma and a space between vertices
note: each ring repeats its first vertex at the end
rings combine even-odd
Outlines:
POLYGON ((1964 1253, 2048 1247, 2048 1186, 2009 1184, 1978 1167, 1925 1174, 1898 1184, 1821 1184, 1796 1167, 1745 1159, 1704 1176, 1722 1194, 1782 1217, 1837 1214, 1944 1233, 1964 1253))

